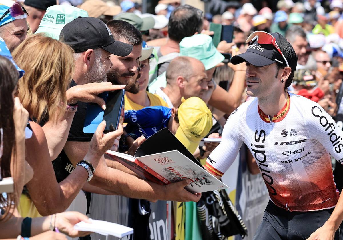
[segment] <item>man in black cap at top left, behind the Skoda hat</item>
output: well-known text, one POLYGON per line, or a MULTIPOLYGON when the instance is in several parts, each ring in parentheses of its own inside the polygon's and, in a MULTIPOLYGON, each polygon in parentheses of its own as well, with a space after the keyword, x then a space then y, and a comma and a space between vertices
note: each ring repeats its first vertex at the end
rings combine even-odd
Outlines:
POLYGON ((25 0, 24 5, 29 14, 27 22, 32 33, 35 33, 39 27, 40 21, 42 21, 44 17, 46 9, 56 5, 56 0, 25 0))

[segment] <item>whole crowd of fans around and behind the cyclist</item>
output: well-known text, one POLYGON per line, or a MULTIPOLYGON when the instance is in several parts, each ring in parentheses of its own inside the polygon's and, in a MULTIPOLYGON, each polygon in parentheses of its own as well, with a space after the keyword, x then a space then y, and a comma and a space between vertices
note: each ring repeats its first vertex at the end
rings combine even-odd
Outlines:
MULTIPOLYGON (((133 155, 145 140, 140 124, 149 135, 168 128, 204 163, 218 143, 200 140, 220 137, 248 99, 245 63, 224 55, 245 52, 253 31, 285 36, 298 56, 288 91, 343 120, 343 2, 269 2, 217 1, 204 13, 161 0, 151 14, 130 0, 0 0, 0 179, 14 179, 14 192, 0 197, 0 238, 90 239, 72 226, 88 221, 91 193, 131 198, 127 212, 148 201, 198 202, 188 179, 159 185, 104 154, 133 155), (211 22, 234 26, 233 42, 215 47, 211 22), (123 126, 84 133, 87 103, 105 109, 98 95, 118 89, 126 90, 123 126)), ((135 238, 150 239, 149 215, 130 216, 135 238)))

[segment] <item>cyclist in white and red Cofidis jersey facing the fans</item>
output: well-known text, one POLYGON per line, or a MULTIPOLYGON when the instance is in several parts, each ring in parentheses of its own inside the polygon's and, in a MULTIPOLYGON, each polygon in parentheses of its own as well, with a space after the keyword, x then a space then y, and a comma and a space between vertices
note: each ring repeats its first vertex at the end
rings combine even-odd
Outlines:
POLYGON ((254 240, 341 239, 330 154, 343 162, 343 131, 317 103, 286 91, 297 56, 282 35, 258 31, 247 43, 231 62, 246 62, 247 95, 256 98, 231 113, 205 168, 220 178, 243 143, 250 149, 270 196, 254 240))

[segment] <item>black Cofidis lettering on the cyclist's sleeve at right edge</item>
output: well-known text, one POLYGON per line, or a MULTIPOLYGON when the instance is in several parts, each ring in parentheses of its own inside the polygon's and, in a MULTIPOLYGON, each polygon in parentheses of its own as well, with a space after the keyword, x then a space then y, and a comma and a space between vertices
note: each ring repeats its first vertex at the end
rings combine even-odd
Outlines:
POLYGON ((338 144, 335 147, 335 152, 340 153, 343 150, 343 144, 340 143, 341 140, 343 140, 343 138, 341 136, 337 136, 336 133, 333 133, 333 130, 336 128, 334 127, 334 124, 332 122, 329 123, 329 120, 325 116, 320 115, 320 113, 323 113, 323 112, 318 106, 312 107, 311 112, 313 116, 315 116, 316 118, 319 118, 320 125, 322 125, 322 127, 326 127, 325 131, 329 131, 329 133, 327 134, 329 136, 329 140, 332 146, 336 146, 338 144))

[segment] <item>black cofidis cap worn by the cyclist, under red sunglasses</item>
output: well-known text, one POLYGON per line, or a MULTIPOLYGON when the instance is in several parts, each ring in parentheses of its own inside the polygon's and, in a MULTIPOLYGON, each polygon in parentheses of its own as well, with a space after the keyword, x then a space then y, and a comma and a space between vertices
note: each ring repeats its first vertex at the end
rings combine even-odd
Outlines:
MULTIPOLYGON (((289 67, 295 70, 297 67, 298 57, 292 45, 280 33, 270 33, 275 38, 277 45, 285 56, 289 67)), ((279 63, 287 66, 285 60, 279 51, 272 44, 259 44, 257 39, 252 41, 245 53, 238 54, 231 58, 232 64, 248 62, 257 67, 263 67, 272 63, 279 63)))

